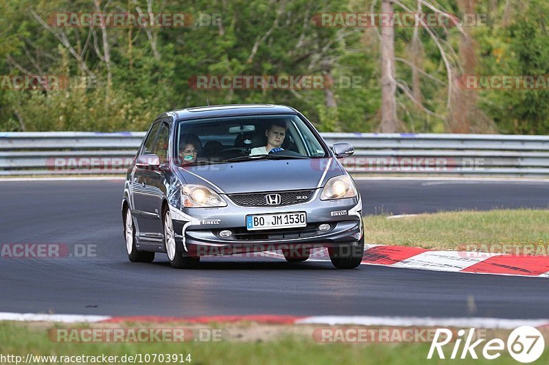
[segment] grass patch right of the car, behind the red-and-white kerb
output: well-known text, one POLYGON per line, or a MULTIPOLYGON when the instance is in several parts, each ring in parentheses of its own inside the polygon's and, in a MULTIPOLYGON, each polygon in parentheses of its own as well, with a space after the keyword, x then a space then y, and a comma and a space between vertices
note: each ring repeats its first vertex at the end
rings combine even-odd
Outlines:
POLYGON ((373 244, 428 249, 460 249, 464 244, 548 247, 549 210, 441 212, 395 219, 366 216, 364 229, 366 242, 373 244))

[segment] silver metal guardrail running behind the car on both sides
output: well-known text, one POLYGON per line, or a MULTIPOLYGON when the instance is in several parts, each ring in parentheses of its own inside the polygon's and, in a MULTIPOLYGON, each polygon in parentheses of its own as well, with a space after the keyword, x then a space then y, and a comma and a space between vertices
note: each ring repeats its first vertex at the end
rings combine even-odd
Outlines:
MULTIPOLYGON (((488 134, 322 134, 349 142, 354 175, 549 177, 549 136, 488 134)), ((121 174, 144 132, 3 132, 0 175, 121 174)))

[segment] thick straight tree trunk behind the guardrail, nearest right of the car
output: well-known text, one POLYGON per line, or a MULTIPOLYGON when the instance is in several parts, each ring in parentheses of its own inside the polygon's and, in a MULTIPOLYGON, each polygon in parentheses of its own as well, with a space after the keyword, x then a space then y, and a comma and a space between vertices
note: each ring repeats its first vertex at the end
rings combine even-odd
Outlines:
MULTIPOLYGON (((382 0, 382 13, 393 14, 393 0, 382 0)), ((395 29, 382 27, 382 133, 397 131, 397 81, 395 79, 395 29)))

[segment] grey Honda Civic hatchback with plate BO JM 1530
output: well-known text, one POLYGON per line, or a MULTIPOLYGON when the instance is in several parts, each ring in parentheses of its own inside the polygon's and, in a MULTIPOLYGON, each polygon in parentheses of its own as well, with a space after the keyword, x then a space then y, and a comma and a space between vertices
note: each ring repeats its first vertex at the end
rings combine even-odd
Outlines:
POLYGON ((207 255, 280 250, 288 262, 327 248, 336 268, 362 261, 362 201, 312 123, 284 105, 165 112, 128 168, 122 217, 132 262, 167 253, 175 268, 207 255))

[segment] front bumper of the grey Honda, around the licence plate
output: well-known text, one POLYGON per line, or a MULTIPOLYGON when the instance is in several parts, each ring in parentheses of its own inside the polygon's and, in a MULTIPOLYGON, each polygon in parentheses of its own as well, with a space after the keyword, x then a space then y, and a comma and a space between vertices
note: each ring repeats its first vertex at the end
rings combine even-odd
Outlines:
MULTIPOLYGON (((186 255, 233 255, 275 249, 309 249, 353 245, 362 238, 360 197, 320 201, 318 197, 307 203, 284 207, 242 207, 230 199, 226 207, 186 208, 185 219, 174 219, 176 244, 186 255), (246 215, 306 212, 307 227, 248 231, 246 215), (192 219, 189 219, 192 217, 192 219), (328 223, 330 229, 318 226, 328 223), (233 231, 222 238, 219 232, 233 231)), ((180 217, 181 218, 181 217, 180 217)))

